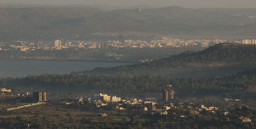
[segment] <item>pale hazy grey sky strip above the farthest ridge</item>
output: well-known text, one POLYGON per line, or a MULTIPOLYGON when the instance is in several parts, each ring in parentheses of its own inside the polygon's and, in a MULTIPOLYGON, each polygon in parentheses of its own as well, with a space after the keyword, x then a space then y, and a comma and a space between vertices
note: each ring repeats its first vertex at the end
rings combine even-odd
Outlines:
POLYGON ((256 8, 256 0, 0 0, 0 3, 11 4, 98 4, 128 7, 140 4, 155 6, 178 5, 185 8, 256 8))

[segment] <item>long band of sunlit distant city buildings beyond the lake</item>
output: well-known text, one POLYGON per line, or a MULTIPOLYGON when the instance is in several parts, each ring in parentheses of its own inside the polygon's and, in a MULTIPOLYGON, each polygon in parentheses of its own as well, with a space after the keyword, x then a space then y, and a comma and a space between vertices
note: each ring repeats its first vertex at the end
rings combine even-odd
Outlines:
MULTIPOLYGON (((244 39, 242 42, 235 40, 226 40, 226 39, 172 39, 170 37, 163 37, 162 39, 154 39, 150 42, 142 41, 142 40, 125 40, 122 41, 108 41, 107 43, 99 43, 99 42, 84 42, 84 41, 76 41, 76 43, 72 43, 70 41, 65 41, 64 43, 61 40, 55 40, 54 44, 45 44, 44 42, 23 42, 17 41, 20 43, 19 45, 10 44, 11 48, 20 49, 21 51, 27 50, 59 50, 59 49, 67 49, 67 48, 75 48, 75 49, 107 49, 108 47, 114 48, 123 48, 123 47, 131 47, 131 48, 162 48, 162 47, 183 47, 183 46, 201 46, 208 47, 209 45, 215 45, 218 43, 236 43, 236 44, 256 44, 255 39, 244 39)), ((5 46, 0 44, 0 50, 9 50, 2 49, 1 46, 5 46)))

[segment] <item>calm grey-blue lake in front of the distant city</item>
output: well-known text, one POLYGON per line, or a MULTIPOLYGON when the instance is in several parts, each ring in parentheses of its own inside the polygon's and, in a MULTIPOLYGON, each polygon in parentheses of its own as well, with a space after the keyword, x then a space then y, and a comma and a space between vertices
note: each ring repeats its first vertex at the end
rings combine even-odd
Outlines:
POLYGON ((0 77, 20 77, 44 73, 69 74, 74 71, 93 70, 97 67, 114 67, 133 63, 45 61, 45 60, 0 60, 0 77))

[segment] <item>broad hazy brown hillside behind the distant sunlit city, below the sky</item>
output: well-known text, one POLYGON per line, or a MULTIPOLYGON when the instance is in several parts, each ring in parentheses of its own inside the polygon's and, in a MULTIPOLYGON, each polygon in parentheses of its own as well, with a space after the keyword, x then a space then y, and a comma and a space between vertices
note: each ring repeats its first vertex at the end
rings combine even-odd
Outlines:
POLYGON ((123 31, 171 35, 256 34, 255 25, 241 25, 256 22, 247 15, 237 17, 178 6, 140 12, 135 9, 0 8, 0 21, 0 40, 99 39, 102 35, 109 36, 108 32, 123 31), (100 35, 93 34, 97 32, 101 32, 100 35))

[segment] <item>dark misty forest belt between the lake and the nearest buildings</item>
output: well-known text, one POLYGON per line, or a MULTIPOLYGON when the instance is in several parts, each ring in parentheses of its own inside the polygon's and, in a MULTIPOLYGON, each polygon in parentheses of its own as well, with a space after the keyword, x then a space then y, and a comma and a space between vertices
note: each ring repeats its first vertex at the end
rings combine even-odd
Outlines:
POLYGON ((176 91, 213 93, 214 91, 244 91, 256 86, 256 69, 235 75, 207 79, 169 76, 85 76, 72 74, 29 75, 24 78, 1 78, 1 87, 14 88, 14 92, 46 90, 48 92, 98 92, 122 97, 159 95, 167 85, 176 91))

